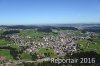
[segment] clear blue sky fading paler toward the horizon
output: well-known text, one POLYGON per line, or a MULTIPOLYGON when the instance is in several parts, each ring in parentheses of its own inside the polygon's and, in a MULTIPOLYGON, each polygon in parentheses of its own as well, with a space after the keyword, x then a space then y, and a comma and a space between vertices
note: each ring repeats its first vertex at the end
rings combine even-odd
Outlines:
POLYGON ((0 0, 0 25, 59 23, 100 23, 100 0, 0 0))

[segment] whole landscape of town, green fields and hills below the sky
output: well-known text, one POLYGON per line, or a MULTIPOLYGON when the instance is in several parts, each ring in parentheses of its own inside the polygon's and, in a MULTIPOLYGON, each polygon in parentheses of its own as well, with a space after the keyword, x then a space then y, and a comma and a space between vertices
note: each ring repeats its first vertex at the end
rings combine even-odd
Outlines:
POLYGON ((0 26, 0 66, 58 66, 51 58, 100 63, 100 24, 0 26))

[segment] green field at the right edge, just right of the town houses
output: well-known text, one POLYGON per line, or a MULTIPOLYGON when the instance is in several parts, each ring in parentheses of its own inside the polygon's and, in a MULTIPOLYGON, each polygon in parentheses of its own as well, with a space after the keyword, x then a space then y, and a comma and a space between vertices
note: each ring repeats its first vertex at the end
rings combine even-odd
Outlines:
POLYGON ((98 54, 100 54, 100 39, 98 38, 94 41, 91 42, 88 40, 79 40, 77 43, 80 45, 81 51, 95 51, 98 54))

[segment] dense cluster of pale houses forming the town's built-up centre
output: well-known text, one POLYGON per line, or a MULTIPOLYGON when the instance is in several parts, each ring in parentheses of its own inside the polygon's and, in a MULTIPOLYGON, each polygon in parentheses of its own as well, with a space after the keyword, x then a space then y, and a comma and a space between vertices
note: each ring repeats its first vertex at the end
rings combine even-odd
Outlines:
POLYGON ((28 48, 24 50, 25 53, 34 53, 39 48, 50 48, 54 49, 55 53, 59 56, 64 56, 67 53, 73 54, 77 52, 76 40, 89 39, 91 35, 95 35, 86 33, 86 36, 76 36, 73 34, 66 31, 59 31, 57 36, 45 35, 40 38, 40 40, 35 40, 28 35, 22 37, 18 34, 12 34, 9 37, 18 46, 28 46, 28 48))

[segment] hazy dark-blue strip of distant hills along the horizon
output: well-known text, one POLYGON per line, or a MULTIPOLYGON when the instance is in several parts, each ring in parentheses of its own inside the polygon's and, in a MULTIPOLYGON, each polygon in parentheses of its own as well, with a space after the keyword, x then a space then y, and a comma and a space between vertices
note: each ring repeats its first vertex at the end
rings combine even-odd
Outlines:
POLYGON ((64 29, 64 30, 85 30, 92 32, 100 32, 100 24, 52 24, 52 25, 1 25, 0 28, 6 29, 64 29))

